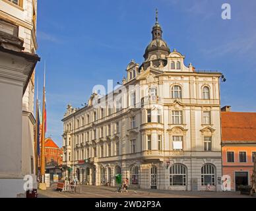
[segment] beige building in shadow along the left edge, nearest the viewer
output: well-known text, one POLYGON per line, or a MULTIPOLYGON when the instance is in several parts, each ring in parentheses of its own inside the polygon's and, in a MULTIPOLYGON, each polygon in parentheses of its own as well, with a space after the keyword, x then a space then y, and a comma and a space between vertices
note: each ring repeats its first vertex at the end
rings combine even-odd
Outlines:
POLYGON ((26 196, 35 175, 36 0, 0 0, 0 197, 26 196))

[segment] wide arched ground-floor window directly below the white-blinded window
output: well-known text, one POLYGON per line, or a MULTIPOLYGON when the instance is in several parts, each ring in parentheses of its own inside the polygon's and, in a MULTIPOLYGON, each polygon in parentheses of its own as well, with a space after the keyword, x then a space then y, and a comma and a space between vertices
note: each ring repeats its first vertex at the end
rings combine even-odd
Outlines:
POLYGON ((186 167, 174 164, 170 167, 170 185, 186 185, 186 167))

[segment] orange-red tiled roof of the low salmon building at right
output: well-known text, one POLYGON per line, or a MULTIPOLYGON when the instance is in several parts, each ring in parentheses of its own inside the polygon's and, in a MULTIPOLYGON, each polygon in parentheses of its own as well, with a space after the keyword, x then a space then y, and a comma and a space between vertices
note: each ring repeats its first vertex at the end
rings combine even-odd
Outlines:
POLYGON ((221 117, 222 140, 256 140, 256 113, 222 111, 221 117))

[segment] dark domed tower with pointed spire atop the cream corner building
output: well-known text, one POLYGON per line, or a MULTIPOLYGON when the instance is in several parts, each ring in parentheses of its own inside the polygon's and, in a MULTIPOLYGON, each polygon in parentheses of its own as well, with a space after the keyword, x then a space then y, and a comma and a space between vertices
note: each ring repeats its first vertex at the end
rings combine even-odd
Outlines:
POLYGON ((162 39, 162 28, 158 23, 158 11, 156 9, 156 22, 152 28, 152 41, 146 47, 143 67, 144 69, 152 65, 159 67, 159 65, 165 66, 167 63, 166 56, 170 54, 170 49, 166 42, 162 39))

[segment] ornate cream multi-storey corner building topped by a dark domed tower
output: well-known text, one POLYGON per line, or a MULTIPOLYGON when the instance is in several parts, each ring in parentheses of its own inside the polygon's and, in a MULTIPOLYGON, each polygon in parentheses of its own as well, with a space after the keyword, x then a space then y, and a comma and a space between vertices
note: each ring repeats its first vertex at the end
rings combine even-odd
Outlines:
POLYGON ((162 39, 156 18, 144 62, 123 83, 63 121, 63 176, 115 185, 121 173, 144 189, 220 190, 221 73, 195 71, 162 39))

